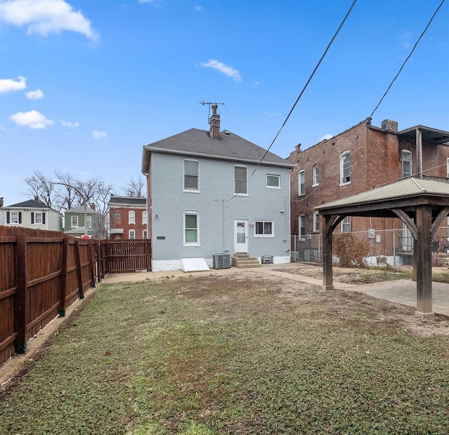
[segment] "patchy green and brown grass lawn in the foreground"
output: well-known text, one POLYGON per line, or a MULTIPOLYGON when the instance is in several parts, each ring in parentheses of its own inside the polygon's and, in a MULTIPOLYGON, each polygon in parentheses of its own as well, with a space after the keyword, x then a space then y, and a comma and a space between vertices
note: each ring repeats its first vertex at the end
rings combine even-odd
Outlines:
POLYGON ((449 321, 237 272, 103 284, 0 391, 0 434, 448 434, 449 321))

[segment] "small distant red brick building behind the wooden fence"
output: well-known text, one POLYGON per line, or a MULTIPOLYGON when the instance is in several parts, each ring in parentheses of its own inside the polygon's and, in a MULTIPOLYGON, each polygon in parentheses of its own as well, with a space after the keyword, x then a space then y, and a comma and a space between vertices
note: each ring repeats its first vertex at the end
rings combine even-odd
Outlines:
POLYGON ((111 195, 108 206, 112 240, 148 239, 147 199, 111 195))

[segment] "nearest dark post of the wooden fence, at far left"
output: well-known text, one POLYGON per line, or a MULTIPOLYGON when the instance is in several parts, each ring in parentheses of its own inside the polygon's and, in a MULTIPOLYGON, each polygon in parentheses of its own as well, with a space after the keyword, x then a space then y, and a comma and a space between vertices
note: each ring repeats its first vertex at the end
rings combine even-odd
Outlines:
POLYGON ((25 233, 17 235, 17 293, 14 303, 14 326, 17 337, 14 349, 17 354, 27 352, 27 319, 29 307, 27 304, 27 236, 25 233))

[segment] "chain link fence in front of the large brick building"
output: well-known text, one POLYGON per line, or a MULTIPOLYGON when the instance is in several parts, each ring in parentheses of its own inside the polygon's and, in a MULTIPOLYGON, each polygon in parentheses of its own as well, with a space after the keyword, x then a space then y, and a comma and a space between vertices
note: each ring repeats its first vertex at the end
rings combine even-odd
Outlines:
MULTIPOLYGON (((413 266, 414 239, 410 230, 368 229, 351 233, 356 240, 368 241, 368 266, 413 266)), ((323 264, 321 234, 291 236, 291 261, 323 264)), ((440 227, 431 241, 432 266, 449 267, 449 227, 440 227)), ((338 259, 335 258, 337 264, 338 259)))

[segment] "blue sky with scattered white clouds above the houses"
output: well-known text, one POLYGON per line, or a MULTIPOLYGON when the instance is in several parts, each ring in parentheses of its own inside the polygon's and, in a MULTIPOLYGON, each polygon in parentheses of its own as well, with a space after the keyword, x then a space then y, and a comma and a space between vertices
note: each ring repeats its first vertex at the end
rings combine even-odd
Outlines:
MULTIPOLYGON (((358 0, 271 151, 373 111, 441 0, 358 0)), ((0 0, 0 196, 34 170, 138 178, 142 147, 221 127, 267 148, 352 0, 0 0)), ((373 116, 449 130, 449 2, 373 116)))

